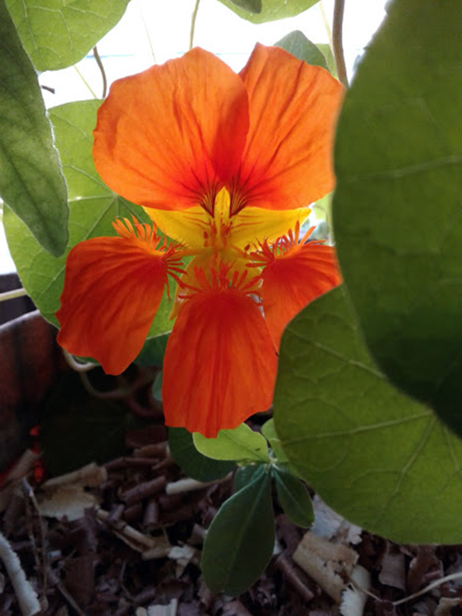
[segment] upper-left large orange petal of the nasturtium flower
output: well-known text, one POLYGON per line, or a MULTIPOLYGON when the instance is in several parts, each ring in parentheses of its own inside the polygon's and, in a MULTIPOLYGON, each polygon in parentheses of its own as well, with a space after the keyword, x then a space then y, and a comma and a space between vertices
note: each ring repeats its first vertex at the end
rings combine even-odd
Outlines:
POLYGON ((240 77, 192 49, 113 84, 99 108, 94 163, 112 190, 142 206, 213 203, 237 172, 248 126, 240 77))

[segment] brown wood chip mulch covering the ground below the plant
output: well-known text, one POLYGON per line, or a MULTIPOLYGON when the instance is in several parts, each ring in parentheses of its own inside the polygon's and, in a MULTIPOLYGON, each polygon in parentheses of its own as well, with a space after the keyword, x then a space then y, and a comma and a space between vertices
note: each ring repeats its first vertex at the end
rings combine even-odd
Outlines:
MULTIPOLYGON (((289 522, 277 503, 277 543, 263 576, 240 597, 212 594, 199 567, 201 547, 232 492, 232 478, 198 488, 185 481, 163 435, 157 431, 161 440, 154 444, 147 444, 149 438, 132 434, 131 456, 85 467, 70 481, 63 476, 34 487, 23 479, 0 492, 0 531, 37 592, 42 615, 340 614, 339 604, 292 559, 306 531, 289 522)), ((347 606, 341 613, 462 616, 462 578, 396 604, 461 572, 462 546, 397 545, 365 532, 358 537, 352 548, 370 574, 375 598, 356 613, 347 606)), ((0 616, 17 615, 17 590, 0 563, 0 616)))

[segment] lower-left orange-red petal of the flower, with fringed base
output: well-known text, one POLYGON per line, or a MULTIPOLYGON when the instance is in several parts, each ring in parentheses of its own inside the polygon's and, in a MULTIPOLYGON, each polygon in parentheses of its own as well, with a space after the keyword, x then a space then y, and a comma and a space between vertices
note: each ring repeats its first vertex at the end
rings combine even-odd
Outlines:
POLYGON ((161 253, 135 237, 77 244, 66 263, 59 344, 120 374, 141 350, 167 282, 161 253))

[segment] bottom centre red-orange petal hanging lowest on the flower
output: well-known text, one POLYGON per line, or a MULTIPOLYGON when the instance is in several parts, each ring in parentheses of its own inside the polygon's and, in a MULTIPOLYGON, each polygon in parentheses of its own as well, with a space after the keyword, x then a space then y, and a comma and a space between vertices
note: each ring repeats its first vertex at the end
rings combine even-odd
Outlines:
POLYGON ((277 357, 258 305, 240 290, 185 301, 165 351, 167 426, 215 438, 270 408, 277 357))

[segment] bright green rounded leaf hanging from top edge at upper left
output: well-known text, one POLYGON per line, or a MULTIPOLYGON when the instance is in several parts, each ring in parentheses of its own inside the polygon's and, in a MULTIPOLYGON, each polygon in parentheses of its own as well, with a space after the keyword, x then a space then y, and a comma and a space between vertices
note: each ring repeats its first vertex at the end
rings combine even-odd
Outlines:
POLYGON ((86 56, 124 15, 129 0, 6 0, 34 66, 63 69, 86 56))

